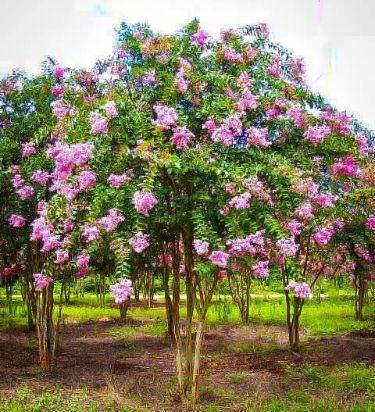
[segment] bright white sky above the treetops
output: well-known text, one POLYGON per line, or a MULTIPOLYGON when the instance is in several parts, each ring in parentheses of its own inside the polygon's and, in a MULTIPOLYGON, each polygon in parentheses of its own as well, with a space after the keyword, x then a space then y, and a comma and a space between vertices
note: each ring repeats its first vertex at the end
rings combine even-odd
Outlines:
POLYGON ((0 0, 0 17, 0 74, 36 74, 46 56, 90 69, 124 20, 172 34, 197 17, 212 35, 265 22, 313 90, 375 130, 375 0, 0 0))

